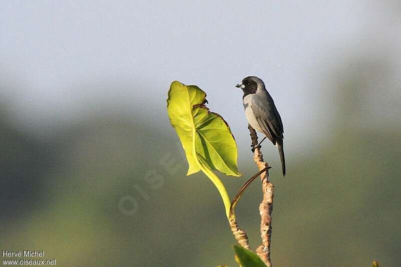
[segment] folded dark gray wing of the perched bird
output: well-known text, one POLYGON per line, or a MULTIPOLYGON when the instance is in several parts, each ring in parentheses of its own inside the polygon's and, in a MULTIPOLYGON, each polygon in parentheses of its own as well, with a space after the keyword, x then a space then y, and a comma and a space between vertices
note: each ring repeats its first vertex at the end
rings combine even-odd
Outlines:
POLYGON ((283 139, 283 123, 267 91, 255 95, 251 108, 263 133, 273 144, 276 144, 276 140, 283 139))

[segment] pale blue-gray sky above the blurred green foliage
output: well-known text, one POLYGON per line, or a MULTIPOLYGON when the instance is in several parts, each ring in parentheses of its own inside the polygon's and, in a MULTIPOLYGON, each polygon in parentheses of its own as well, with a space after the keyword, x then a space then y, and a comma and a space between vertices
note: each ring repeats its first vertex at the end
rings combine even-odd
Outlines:
POLYGON ((366 80, 355 127, 399 123, 400 44, 398 1, 2 1, 0 93, 28 128, 100 109, 173 134, 165 99, 179 80, 204 89, 248 149, 234 86, 257 75, 291 154, 330 139, 354 67, 366 80))

